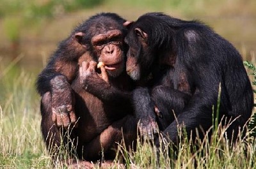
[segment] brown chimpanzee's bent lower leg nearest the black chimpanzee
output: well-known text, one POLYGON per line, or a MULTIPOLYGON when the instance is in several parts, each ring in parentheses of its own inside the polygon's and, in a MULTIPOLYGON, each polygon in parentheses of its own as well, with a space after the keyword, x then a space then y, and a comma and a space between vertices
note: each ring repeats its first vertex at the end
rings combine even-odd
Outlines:
POLYGON ((102 152, 104 159, 115 159, 118 143, 124 138, 126 148, 135 148, 137 138, 137 122, 132 115, 127 115, 119 121, 113 122, 100 135, 84 145, 83 156, 86 160, 100 159, 102 152))

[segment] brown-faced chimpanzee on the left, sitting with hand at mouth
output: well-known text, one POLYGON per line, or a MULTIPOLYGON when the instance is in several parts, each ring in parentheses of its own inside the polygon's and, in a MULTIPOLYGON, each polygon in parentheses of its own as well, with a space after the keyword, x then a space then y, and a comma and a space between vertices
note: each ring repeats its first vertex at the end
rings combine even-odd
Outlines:
POLYGON ((61 140, 70 156, 75 146, 79 159, 95 161, 102 152, 104 159, 115 158, 113 149, 122 137, 127 147, 136 139, 137 121, 129 104, 134 85, 124 71, 124 22, 115 13, 90 17, 61 41, 38 76, 41 129, 54 159, 61 140), (104 66, 97 70, 97 62, 104 66))

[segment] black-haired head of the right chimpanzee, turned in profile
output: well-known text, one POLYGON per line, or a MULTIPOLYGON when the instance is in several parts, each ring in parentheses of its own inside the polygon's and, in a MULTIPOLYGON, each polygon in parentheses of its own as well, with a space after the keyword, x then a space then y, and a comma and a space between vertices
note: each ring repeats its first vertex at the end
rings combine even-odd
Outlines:
POLYGON ((173 29, 165 21, 166 17, 163 13, 147 13, 136 22, 124 23, 129 29, 125 36, 125 43, 129 46, 126 71, 133 80, 147 78, 156 65, 166 61, 166 55, 175 53, 173 29))

